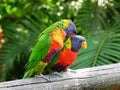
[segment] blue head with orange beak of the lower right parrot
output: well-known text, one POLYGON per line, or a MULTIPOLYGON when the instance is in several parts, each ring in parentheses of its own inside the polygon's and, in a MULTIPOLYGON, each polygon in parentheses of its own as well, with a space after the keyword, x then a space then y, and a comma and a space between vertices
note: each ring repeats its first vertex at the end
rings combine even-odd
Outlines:
POLYGON ((79 49, 82 48, 86 48, 87 47, 87 43, 86 43, 86 39, 80 35, 75 35, 71 37, 71 50, 72 51, 79 51, 79 49))

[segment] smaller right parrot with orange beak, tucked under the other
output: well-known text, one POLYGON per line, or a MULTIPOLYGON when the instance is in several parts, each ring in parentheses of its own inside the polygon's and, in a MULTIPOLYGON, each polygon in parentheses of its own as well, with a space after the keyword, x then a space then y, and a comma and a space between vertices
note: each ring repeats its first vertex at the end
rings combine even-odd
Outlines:
POLYGON ((43 73, 50 74, 54 72, 67 71, 67 67, 75 62, 79 49, 86 47, 87 42, 83 36, 74 35, 72 37, 68 37, 62 50, 56 54, 43 73))

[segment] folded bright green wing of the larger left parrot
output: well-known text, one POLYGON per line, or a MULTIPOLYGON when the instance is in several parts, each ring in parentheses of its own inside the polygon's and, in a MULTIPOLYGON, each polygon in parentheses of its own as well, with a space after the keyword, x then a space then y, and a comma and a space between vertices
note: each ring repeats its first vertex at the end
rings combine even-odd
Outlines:
POLYGON ((44 59, 51 45, 51 37, 42 35, 34 46, 26 69, 33 68, 40 60, 44 59))

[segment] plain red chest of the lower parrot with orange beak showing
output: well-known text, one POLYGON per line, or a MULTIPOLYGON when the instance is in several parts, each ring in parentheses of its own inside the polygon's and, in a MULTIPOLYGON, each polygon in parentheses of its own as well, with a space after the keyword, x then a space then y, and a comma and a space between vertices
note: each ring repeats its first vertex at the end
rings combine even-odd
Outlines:
POLYGON ((69 66, 74 63, 77 55, 78 52, 72 52, 69 49, 64 49, 63 51, 60 52, 60 60, 58 61, 57 64, 69 66))

